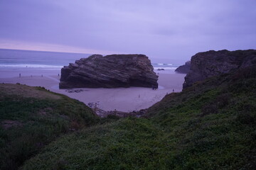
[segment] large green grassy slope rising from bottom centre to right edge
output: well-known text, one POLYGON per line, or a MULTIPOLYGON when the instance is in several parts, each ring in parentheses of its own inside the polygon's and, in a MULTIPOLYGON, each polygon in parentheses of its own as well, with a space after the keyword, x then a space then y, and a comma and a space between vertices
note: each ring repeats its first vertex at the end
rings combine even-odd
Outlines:
POLYGON ((169 94, 144 118, 50 143, 22 169, 256 169, 256 67, 169 94))

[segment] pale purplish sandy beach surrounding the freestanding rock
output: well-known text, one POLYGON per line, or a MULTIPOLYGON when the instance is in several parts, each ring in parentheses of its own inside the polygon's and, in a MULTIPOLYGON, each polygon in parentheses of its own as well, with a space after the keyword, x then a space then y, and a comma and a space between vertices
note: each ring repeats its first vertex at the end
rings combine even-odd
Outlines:
MULTIPOLYGON (((3 70, 1 70, 3 71, 3 70)), ((19 70, 21 71, 21 70, 19 70)), ((159 89, 152 90, 150 88, 130 87, 116 89, 58 89, 60 77, 59 70, 43 72, 38 71, 21 72, 21 77, 18 77, 17 72, 1 72, 0 83, 9 84, 26 84, 28 86, 43 86, 50 91, 59 94, 65 94, 70 98, 78 99, 86 105, 88 103, 97 103, 97 107, 105 111, 139 111, 144 108, 149 108, 154 103, 158 102, 166 94, 182 91, 182 84, 186 74, 177 74, 174 72, 158 72, 159 73, 159 89), (32 76, 31 76, 32 75, 32 76), (43 75, 43 77, 42 77, 43 75), (80 90, 80 92, 75 92, 80 90)))

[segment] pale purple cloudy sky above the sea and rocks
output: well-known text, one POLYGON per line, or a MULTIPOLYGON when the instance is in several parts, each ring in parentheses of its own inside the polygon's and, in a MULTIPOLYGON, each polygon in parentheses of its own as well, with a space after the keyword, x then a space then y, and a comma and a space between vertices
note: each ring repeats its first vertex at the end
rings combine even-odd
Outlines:
POLYGON ((0 48, 141 53, 182 64, 196 52, 255 46, 255 0, 0 1, 0 48))

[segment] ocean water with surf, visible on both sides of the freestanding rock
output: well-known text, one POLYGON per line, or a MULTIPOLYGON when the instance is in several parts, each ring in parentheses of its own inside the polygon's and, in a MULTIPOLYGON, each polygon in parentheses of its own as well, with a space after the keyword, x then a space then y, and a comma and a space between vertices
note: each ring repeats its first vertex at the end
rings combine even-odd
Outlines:
MULTIPOLYGON (((54 72, 60 74, 63 66, 89 57, 91 54, 69 53, 69 52, 42 52, 30 50, 7 50, 0 49, 0 77, 10 77, 22 72, 28 75, 41 75, 42 72, 54 72)), ((171 63, 152 63, 155 70, 165 69, 174 72, 178 67, 171 63)))

